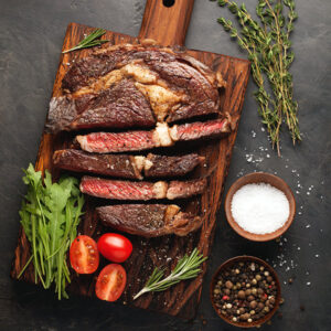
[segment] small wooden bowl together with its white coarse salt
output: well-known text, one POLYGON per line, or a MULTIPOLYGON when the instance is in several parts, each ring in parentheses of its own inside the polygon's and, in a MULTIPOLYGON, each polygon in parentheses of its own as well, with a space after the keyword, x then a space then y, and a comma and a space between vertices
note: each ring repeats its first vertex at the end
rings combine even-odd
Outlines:
POLYGON ((282 179, 266 172, 253 172, 229 188, 225 214, 231 227, 241 236, 267 242, 289 228, 296 214, 296 201, 282 179))

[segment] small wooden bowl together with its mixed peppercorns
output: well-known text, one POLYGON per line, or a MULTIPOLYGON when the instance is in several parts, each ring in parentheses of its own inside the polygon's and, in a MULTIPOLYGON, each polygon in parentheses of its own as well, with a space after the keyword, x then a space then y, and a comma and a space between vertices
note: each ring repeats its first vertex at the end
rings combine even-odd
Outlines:
POLYGON ((239 328, 255 328, 278 309, 280 284, 276 271, 263 259, 237 256, 214 274, 210 296, 224 321, 239 328))

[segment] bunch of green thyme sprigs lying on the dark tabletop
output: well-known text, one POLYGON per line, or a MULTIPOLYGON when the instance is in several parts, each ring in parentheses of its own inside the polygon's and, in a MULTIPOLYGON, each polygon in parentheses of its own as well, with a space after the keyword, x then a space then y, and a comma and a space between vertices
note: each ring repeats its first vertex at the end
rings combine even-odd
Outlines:
POLYGON ((295 54, 290 52, 290 33, 298 18, 293 0, 259 0, 256 13, 260 23, 253 20, 245 4, 218 0, 221 7, 228 6, 241 25, 238 31, 231 20, 220 18, 224 30, 235 38, 238 45, 247 51, 252 63, 253 78, 258 87, 254 96, 259 105, 263 124, 269 132, 273 147, 279 150, 279 134, 285 121, 293 145, 301 140, 298 125, 298 104, 292 98, 292 76, 289 73, 295 54), (287 7, 287 14, 284 13, 287 7), (267 78, 267 79, 266 79, 267 78), (270 86, 273 94, 267 92, 270 86))

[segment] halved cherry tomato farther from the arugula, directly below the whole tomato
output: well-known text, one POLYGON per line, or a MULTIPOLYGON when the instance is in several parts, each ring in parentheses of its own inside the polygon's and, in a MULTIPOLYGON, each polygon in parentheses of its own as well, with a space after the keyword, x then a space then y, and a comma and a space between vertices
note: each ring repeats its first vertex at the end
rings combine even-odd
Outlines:
POLYGON ((95 285, 96 296, 106 301, 116 301, 122 293, 127 282, 127 273, 122 266, 111 264, 106 266, 95 285))

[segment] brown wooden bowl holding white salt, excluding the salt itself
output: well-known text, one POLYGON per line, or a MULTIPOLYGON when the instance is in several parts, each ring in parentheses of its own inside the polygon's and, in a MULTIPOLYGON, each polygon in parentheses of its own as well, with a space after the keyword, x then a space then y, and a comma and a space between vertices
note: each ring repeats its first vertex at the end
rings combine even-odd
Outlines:
POLYGON ((280 179, 277 175, 266 173, 266 172, 253 172, 248 173, 242 178, 239 178, 237 181, 235 181, 232 186, 229 188, 226 197, 225 197, 225 214, 226 214, 226 220, 229 224, 229 226, 242 237, 249 239, 249 241, 255 241, 255 242, 267 242, 275 239, 282 235, 291 225, 295 218, 296 214, 296 200, 295 195, 291 191, 291 189, 288 186, 288 184, 280 179), (252 184, 252 183, 267 183, 270 184, 271 186, 280 190, 287 197, 289 202, 289 216, 285 224, 276 229, 275 232, 271 233, 266 233, 266 234, 254 234, 250 232, 245 231, 242 228, 237 222, 235 222, 232 211, 231 211, 231 204, 232 204, 232 199, 233 195, 236 193, 237 190, 239 190, 242 186, 246 184, 252 184))

